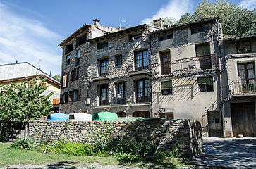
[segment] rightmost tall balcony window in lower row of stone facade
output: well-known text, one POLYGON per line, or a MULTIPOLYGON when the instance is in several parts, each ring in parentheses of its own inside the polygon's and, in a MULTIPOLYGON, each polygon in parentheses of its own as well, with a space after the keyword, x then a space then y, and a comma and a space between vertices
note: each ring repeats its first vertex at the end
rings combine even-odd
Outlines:
POLYGON ((137 102, 150 101, 150 83, 148 79, 137 81, 137 102))

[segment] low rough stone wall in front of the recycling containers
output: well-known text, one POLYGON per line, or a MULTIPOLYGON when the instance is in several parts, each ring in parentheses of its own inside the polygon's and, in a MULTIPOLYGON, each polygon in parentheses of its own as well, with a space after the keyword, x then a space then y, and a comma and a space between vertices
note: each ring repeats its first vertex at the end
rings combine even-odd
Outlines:
POLYGON ((121 138, 136 142, 156 142, 159 149, 169 152, 179 145, 183 156, 194 158, 202 153, 202 128, 195 120, 169 120, 146 122, 45 122, 30 123, 30 137, 37 141, 49 137, 51 142, 63 139, 71 142, 93 143, 97 129, 106 130, 113 125, 114 143, 121 138))

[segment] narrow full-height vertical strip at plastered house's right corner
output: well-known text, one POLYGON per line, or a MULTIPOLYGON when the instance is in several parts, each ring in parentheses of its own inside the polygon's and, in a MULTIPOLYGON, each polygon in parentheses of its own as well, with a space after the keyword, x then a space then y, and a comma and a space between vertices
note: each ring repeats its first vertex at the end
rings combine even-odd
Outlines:
POLYGON ((220 51, 220 47, 219 47, 219 24, 218 24, 218 20, 215 19, 215 22, 216 22, 216 25, 217 25, 217 34, 218 34, 218 55, 219 55, 219 59, 218 59, 218 62, 219 62, 219 75, 218 75, 218 78, 219 78, 219 115, 221 117, 221 135, 222 137, 224 137, 224 115, 223 115, 223 112, 222 112, 222 92, 221 92, 221 51, 220 51))

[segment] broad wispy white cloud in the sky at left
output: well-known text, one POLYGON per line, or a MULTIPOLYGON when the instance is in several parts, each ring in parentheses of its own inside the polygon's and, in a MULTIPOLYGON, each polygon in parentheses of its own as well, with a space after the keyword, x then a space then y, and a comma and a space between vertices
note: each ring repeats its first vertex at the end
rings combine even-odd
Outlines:
POLYGON ((49 30, 38 20, 24 18, 0 2, 0 64, 28 62, 53 75, 61 72, 63 37, 49 30))

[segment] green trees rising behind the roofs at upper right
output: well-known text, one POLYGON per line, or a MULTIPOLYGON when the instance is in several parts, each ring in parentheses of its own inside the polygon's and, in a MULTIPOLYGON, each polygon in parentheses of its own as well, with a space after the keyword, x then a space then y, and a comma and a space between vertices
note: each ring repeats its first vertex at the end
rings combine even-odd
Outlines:
POLYGON ((238 37, 256 35, 256 11, 231 4, 229 1, 204 0, 197 5, 195 12, 190 15, 185 13, 178 23, 200 20, 209 17, 221 17, 224 35, 236 35, 238 37))

